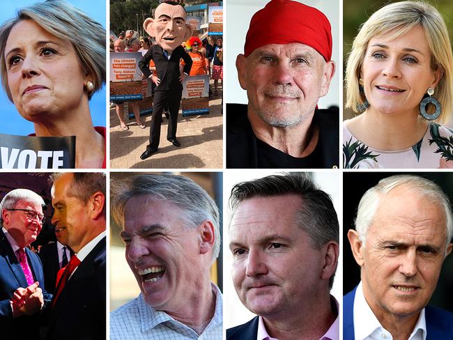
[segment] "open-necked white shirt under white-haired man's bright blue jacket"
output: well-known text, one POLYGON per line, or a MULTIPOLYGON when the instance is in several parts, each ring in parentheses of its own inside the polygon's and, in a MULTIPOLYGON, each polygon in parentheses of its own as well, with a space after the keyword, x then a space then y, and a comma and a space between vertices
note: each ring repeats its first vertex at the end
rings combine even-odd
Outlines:
MULTIPOLYGON (((354 336, 355 340, 392 340, 392 334, 379 323, 363 295, 362 281, 355 291, 354 298, 354 336)), ((424 318, 424 309, 420 312, 417 323, 408 340, 426 340, 427 323, 424 318)))

